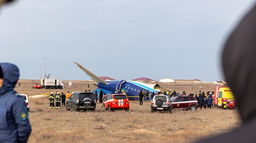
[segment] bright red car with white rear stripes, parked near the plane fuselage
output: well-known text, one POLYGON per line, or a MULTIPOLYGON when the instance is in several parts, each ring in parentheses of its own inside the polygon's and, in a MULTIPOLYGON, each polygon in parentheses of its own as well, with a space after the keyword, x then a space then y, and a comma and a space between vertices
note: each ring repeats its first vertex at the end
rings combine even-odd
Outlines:
POLYGON ((104 102, 104 109, 109 111, 113 109, 125 109, 129 111, 130 102, 124 94, 110 94, 108 95, 107 101, 104 102))

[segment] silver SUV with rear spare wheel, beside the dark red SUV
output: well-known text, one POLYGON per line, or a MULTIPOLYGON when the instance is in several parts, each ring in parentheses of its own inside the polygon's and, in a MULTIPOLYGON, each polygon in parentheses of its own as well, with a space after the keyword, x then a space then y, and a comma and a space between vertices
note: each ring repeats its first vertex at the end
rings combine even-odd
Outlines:
POLYGON ((168 111, 172 112, 172 104, 169 96, 167 95, 155 95, 151 101, 151 112, 154 111, 168 111))

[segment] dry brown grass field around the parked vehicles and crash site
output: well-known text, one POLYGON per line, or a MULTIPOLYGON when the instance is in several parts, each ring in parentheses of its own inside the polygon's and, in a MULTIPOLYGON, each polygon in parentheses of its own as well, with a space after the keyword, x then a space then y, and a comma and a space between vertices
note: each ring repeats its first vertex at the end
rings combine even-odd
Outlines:
MULTIPOLYGON (((21 84, 21 87, 16 88, 20 93, 37 95, 49 92, 25 87, 26 83, 21 84)), ((192 85, 175 86, 180 87, 177 89, 180 91, 199 90, 192 85)), ((86 87, 74 85, 63 91, 84 91, 86 87)), ((213 90, 212 87, 202 88, 205 88, 204 91, 213 90)), ((151 113, 149 102, 140 106, 138 101, 131 101, 129 112, 108 112, 100 108, 102 104, 97 104, 95 112, 73 112, 64 108, 50 109, 47 97, 29 98, 29 102, 32 124, 29 143, 190 143, 228 132, 241 124, 238 112, 234 110, 151 113)))

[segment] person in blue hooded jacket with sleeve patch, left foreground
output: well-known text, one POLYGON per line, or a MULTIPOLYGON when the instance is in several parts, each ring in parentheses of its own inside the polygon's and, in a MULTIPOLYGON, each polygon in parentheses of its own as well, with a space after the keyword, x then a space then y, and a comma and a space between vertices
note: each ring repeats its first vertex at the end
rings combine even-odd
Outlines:
POLYGON ((26 143, 31 133, 26 103, 14 90, 19 76, 16 65, 0 63, 0 143, 26 143))

